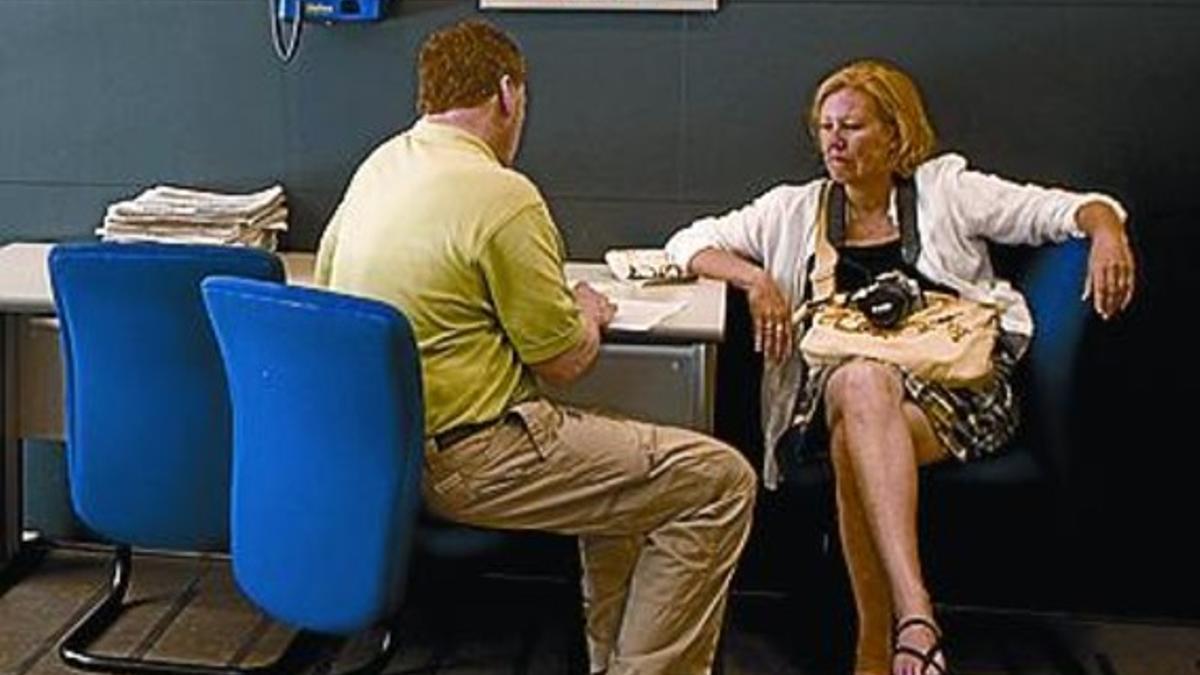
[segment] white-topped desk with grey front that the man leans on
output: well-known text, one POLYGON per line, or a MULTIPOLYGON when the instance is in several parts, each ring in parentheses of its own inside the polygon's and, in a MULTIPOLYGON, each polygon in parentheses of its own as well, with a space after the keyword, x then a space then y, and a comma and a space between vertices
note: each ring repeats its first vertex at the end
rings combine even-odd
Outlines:
MULTIPOLYGON (((22 531, 20 441, 62 440, 62 365, 50 291, 49 244, 0 247, 0 568, 22 531)), ((312 253, 283 253, 288 280, 312 280, 312 253)), ((608 282, 602 264, 569 263, 572 281, 608 282)), ((725 331, 725 286, 622 286, 620 298, 686 300, 647 333, 605 336, 595 368, 554 398, 660 422, 712 430, 716 344, 725 331)))

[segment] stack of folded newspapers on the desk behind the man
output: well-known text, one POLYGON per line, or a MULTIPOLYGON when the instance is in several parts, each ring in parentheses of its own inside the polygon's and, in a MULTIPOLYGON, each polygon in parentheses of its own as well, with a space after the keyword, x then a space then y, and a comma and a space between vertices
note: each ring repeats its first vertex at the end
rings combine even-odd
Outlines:
POLYGON ((274 251, 288 228, 281 185, 248 195, 158 185, 108 207, 96 231, 104 241, 222 244, 274 251))

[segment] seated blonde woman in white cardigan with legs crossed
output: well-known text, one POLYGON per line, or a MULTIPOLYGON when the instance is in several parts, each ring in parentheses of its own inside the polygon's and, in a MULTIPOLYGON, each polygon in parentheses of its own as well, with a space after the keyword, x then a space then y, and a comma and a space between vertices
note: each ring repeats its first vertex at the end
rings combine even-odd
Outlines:
MULTIPOLYGON (((755 348, 766 356, 768 448, 792 425, 824 424, 836 476, 839 530, 858 611, 856 673, 948 671, 942 634, 920 571, 917 467, 1000 450, 1016 428, 1012 369, 1033 335, 1020 292, 992 273, 988 243, 1091 238, 1085 298, 1103 318, 1134 293, 1124 209, 1111 197, 1018 184, 980 173, 935 135, 917 85, 899 67, 862 60, 817 88, 808 126, 828 178, 781 185, 728 214, 698 220, 667 243, 674 262, 746 291, 755 348), (907 186, 907 187, 906 187, 907 186), (978 388, 924 382, 874 360, 806 369, 792 312, 811 295, 821 193, 840 193, 836 288, 852 292, 900 270, 923 288, 1001 307, 995 377, 978 388), (914 223, 901 217, 914 191, 914 223)), ((767 453, 764 483, 779 470, 767 453)))

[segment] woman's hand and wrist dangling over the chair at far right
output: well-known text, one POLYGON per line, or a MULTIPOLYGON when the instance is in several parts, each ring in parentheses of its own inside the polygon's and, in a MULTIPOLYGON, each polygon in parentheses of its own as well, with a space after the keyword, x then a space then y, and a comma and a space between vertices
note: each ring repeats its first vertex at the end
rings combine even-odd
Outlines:
POLYGON ((1075 211, 1075 221, 1092 240, 1084 299, 1108 321, 1129 306, 1136 285, 1136 267, 1124 222, 1108 203, 1088 202, 1075 211))

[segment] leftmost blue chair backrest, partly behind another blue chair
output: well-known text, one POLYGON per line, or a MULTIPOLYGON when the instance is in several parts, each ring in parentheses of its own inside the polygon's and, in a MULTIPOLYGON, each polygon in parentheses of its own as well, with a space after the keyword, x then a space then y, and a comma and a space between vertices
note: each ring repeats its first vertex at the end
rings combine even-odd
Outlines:
POLYGON ((282 279, 282 263, 247 249, 80 244, 55 246, 49 270, 77 514, 120 543, 223 549, 229 402, 200 281, 282 279))

